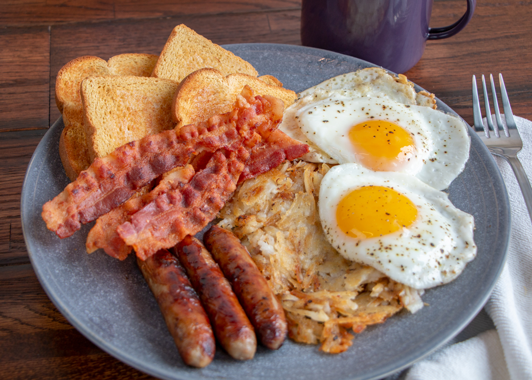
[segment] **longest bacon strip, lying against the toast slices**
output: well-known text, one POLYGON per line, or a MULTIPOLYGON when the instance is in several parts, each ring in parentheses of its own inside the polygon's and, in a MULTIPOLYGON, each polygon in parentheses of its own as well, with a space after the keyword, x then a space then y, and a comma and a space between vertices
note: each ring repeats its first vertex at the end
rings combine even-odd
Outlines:
POLYGON ((76 181, 43 205, 46 227, 61 238, 71 236, 81 224, 109 212, 149 181, 184 166, 198 153, 252 148, 261 142, 261 136, 268 137, 276 130, 281 119, 281 101, 253 98, 251 89, 244 88, 231 112, 179 131, 146 136, 96 159, 76 181))

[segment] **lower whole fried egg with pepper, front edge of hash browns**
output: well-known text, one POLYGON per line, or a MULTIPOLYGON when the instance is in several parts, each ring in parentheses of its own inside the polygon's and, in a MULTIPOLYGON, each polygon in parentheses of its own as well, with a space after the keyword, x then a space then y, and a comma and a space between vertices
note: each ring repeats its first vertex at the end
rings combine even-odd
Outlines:
POLYGON ((346 259, 416 289, 451 282, 477 252, 473 217, 401 172, 335 166, 321 181, 318 208, 328 241, 346 259))

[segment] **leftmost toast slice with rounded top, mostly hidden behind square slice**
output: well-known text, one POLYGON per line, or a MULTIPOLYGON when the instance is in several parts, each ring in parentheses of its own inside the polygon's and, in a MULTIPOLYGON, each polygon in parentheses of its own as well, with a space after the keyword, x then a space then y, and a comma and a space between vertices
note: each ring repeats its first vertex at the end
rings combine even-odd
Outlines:
POLYGON ((55 82, 55 102, 63 113, 65 128, 59 141, 59 153, 66 175, 74 180, 88 168, 90 158, 83 127, 80 85, 95 75, 135 75, 149 77, 159 56, 120 54, 104 61, 95 56, 78 57, 61 68, 55 82))

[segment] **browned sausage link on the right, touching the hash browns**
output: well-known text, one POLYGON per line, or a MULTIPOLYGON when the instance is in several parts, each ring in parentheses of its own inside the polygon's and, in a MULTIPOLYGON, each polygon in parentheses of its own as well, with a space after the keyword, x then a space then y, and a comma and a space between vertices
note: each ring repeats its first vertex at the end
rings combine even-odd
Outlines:
POLYGON ((288 330, 285 312, 246 247, 235 234, 216 225, 205 233, 203 240, 232 284, 262 344, 277 350, 288 330))

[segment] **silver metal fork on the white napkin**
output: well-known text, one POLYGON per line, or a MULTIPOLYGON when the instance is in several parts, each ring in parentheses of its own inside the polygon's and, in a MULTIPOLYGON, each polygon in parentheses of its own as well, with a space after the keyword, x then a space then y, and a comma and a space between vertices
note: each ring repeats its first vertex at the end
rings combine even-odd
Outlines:
POLYGON ((506 93, 506 87, 504 87, 504 80, 502 75, 499 74, 499 84, 501 86, 502 105, 504 109, 504 119, 506 125, 502 122, 501 113, 499 112, 497 103, 497 94, 495 92, 495 85, 493 84, 493 76, 490 74, 489 79, 491 81, 491 89, 493 95, 493 108, 495 109, 495 119, 497 127, 493 125, 492 113, 489 110, 489 99, 486 90, 486 79, 482 76, 482 89, 484 92, 484 104, 486 109, 486 121, 487 127, 482 122, 482 116, 480 114, 480 103, 478 101, 477 92, 477 79, 473 75, 473 120, 475 123, 475 131, 480 139, 486 144, 488 150, 495 155, 504 158, 516 175, 517 182, 521 187, 521 192, 525 198, 530 221, 532 222, 532 187, 528 177, 521 165, 521 162, 517 159, 517 152, 523 147, 523 142, 519 136, 516 122, 513 120, 512 109, 510 107, 510 101, 508 94, 506 93), (501 136, 501 132, 504 134, 501 136))

